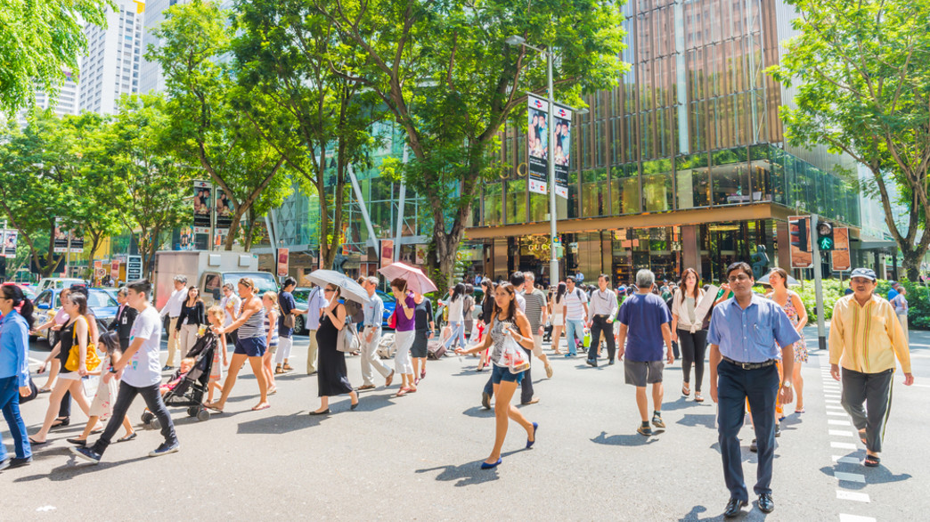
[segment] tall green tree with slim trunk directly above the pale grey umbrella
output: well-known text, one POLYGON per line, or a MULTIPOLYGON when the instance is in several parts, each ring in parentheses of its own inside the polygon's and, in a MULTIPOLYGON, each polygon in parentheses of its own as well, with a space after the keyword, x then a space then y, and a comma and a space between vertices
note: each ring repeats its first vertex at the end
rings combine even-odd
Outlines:
POLYGON ((235 99, 246 100, 243 114, 285 158, 304 192, 319 194, 320 258, 331 266, 344 240, 348 169, 367 163, 384 111, 360 82, 332 72, 339 40, 311 3, 257 0, 236 7, 241 94, 235 99))

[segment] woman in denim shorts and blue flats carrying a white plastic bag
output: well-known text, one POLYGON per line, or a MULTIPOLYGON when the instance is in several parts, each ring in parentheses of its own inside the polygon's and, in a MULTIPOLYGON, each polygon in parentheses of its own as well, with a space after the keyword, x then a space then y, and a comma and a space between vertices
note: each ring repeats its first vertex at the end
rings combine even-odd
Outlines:
POLYGON ((494 315, 489 326, 490 335, 485 336, 484 342, 469 350, 456 349, 458 355, 475 354, 493 346, 491 362, 494 364, 494 372, 491 374, 491 381, 494 385, 494 396, 497 397, 494 404, 497 431, 494 448, 491 449, 491 455, 485 459, 485 462, 481 463, 482 469, 495 468, 500 464, 500 451, 504 446, 504 438, 507 436, 509 419, 516 421, 526 430, 526 448, 533 447, 538 428, 536 422, 527 421, 523 413, 511 404, 517 385, 523 381, 526 372, 511 373, 503 360, 504 341, 510 337, 526 350, 532 350, 533 333, 530 330, 529 320, 517 306, 516 291, 510 283, 502 283, 495 289, 494 315))

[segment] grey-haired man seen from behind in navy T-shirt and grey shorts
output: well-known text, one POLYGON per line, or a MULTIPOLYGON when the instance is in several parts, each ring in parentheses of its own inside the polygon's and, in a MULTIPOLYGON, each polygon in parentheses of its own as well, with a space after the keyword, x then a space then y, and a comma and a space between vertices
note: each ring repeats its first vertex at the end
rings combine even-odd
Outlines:
POLYGON ((649 399, 645 394, 646 384, 652 384, 652 400, 655 406, 652 423, 659 430, 665 430, 662 422, 662 348, 665 359, 671 365, 675 361, 671 354, 671 314, 657 295, 652 293, 656 284, 656 274, 649 270, 636 273, 636 287, 639 292, 631 295, 620 306, 618 320, 620 331, 617 341, 617 358, 623 360, 623 371, 627 384, 636 386, 636 406, 640 410, 640 435, 652 435, 649 427, 649 399), (626 346, 624 341, 628 340, 626 346))

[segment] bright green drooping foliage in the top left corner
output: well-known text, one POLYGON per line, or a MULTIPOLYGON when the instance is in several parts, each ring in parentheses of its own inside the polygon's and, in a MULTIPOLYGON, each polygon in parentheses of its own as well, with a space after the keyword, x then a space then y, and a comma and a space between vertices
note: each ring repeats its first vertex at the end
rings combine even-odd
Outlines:
POLYGON ((0 111, 30 105, 37 85, 57 96, 85 53, 82 22, 106 27, 108 7, 98 0, 0 0, 0 111))

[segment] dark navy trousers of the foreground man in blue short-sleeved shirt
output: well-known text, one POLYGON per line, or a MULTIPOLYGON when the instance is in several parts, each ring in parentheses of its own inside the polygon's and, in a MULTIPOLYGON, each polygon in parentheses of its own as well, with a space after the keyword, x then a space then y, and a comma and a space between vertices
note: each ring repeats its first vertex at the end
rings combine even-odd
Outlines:
POLYGON ((750 401, 752 423, 755 425, 759 448, 756 470, 757 495, 772 493, 772 461, 775 458, 775 401, 778 393, 778 368, 775 365, 743 369, 721 361, 717 366, 717 441, 724 461, 724 481, 730 498, 749 502, 743 480, 739 430, 746 415, 746 400, 750 401))

